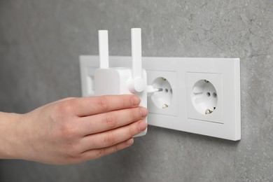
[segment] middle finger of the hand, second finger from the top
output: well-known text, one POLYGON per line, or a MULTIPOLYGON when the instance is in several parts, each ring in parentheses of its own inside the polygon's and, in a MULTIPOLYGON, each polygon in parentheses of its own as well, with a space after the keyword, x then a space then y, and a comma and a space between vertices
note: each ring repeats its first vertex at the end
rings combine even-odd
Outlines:
POLYGON ((83 117, 80 118, 78 132, 85 136, 112 130, 144 119, 147 113, 146 108, 137 107, 83 117))

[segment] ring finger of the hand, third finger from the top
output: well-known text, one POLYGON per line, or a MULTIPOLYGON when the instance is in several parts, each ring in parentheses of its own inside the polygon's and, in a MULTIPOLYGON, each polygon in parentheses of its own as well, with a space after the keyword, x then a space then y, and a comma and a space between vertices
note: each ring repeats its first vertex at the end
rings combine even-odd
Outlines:
POLYGON ((140 120, 139 122, 119 127, 115 130, 91 134, 80 141, 80 146, 82 147, 80 150, 89 151, 92 148, 105 148, 119 144, 143 132, 146 127, 147 123, 144 120, 140 120))

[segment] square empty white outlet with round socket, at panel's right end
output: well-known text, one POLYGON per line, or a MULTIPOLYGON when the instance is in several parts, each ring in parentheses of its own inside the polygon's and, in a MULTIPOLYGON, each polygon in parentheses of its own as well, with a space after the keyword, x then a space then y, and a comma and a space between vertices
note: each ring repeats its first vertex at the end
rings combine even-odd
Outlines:
POLYGON ((223 123, 223 74, 186 73, 187 115, 193 120, 223 123))

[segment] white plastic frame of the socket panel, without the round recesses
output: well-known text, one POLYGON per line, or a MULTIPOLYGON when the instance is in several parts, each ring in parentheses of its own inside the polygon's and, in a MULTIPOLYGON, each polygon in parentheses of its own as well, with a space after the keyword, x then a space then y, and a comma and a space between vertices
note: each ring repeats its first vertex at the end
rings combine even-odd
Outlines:
MULTIPOLYGON (((131 62, 132 57, 109 57, 111 67, 131 67, 131 62)), ((240 60, 238 58, 142 57, 142 64, 147 71, 148 85, 152 84, 152 80, 149 79, 149 71, 166 71, 164 73, 172 71, 173 74, 175 73, 175 76, 169 78, 169 82, 171 85, 176 84, 176 86, 172 86, 172 90, 174 98, 177 100, 172 102, 172 107, 162 109, 157 113, 158 108, 151 103, 151 99, 148 99, 148 109, 150 110, 148 125, 232 141, 241 139, 240 60), (214 85, 218 92, 218 110, 216 109, 209 115, 202 115, 194 109, 189 99, 194 79, 187 79, 187 73, 221 75, 223 84, 216 83, 214 85), (172 80, 174 77, 176 80, 172 80)), ((80 56, 83 97, 93 95, 92 83, 88 82, 92 80, 90 78, 94 77, 94 69, 98 67, 99 56, 80 56)), ((163 77, 168 76, 165 74, 163 77)))

